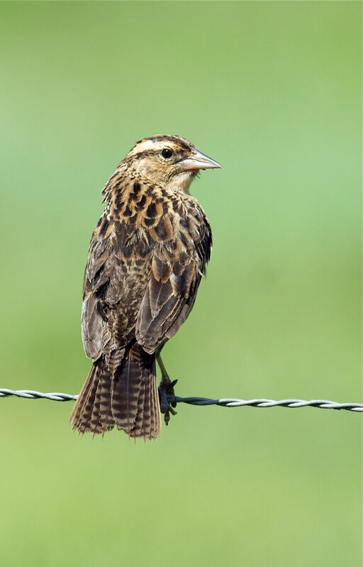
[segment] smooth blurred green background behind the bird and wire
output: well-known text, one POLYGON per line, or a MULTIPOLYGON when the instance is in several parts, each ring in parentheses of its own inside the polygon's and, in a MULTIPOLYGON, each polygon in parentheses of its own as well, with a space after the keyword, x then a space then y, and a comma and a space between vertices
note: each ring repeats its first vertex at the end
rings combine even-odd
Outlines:
MULTIPOLYGON (((361 400, 359 2, 2 3, 1 387, 77 393, 101 189, 138 138, 223 170, 177 394, 361 400)), ((0 401, 6 566, 358 566, 361 416, 180 405, 155 442, 0 401)))

